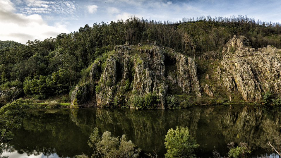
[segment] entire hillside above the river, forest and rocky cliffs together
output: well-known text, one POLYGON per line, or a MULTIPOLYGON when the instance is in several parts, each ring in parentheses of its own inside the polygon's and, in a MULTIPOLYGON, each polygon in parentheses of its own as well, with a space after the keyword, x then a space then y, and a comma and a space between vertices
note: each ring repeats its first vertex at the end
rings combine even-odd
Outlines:
POLYGON ((0 50, 0 102, 63 97, 148 109, 264 102, 265 93, 280 94, 280 33, 278 24, 251 18, 85 25, 0 50))

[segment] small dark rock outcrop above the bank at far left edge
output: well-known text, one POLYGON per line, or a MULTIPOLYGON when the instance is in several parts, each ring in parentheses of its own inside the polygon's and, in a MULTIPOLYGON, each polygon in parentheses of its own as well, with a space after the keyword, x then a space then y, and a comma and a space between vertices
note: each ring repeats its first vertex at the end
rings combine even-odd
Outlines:
POLYGON ((12 102, 23 95, 23 89, 11 87, 8 90, 0 90, 0 104, 12 102))

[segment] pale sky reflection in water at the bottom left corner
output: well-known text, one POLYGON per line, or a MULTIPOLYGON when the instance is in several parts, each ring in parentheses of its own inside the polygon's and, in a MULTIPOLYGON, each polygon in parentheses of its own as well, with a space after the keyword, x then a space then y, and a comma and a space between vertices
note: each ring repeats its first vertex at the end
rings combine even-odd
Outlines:
POLYGON ((59 158, 59 156, 57 154, 51 154, 49 156, 44 155, 43 153, 39 154, 39 155, 34 155, 31 154, 28 156, 27 153, 23 153, 23 154, 19 154, 17 151, 14 152, 4 152, 1 156, 8 156, 9 158, 43 158, 43 157, 48 157, 48 158, 59 158))

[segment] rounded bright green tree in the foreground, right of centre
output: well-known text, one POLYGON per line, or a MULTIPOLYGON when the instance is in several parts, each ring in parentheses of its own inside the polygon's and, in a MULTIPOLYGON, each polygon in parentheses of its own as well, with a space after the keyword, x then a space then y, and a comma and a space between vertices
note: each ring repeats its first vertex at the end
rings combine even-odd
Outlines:
POLYGON ((169 129, 165 135, 165 147, 167 152, 165 157, 196 157, 194 149, 198 148, 196 140, 190 137, 187 127, 178 127, 174 130, 169 129))

